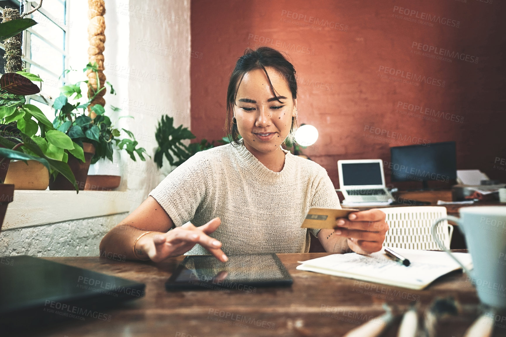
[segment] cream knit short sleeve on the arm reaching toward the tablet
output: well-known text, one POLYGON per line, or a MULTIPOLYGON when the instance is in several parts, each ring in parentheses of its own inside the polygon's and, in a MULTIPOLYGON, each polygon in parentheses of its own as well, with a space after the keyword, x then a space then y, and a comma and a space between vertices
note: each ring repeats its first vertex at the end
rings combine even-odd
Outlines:
POLYGON ((209 194, 213 172, 205 151, 197 152, 168 174, 149 193, 171 217, 176 227, 192 220, 209 194))

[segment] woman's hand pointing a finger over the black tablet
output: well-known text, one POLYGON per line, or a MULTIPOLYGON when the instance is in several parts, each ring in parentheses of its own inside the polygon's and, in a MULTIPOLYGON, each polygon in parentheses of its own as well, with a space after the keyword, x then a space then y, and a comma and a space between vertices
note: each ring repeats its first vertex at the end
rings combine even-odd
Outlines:
POLYGON ((198 243, 218 260, 226 262, 228 258, 220 249, 221 242, 207 235, 213 233, 220 224, 220 218, 215 218, 200 227, 188 223, 154 237, 147 234, 139 239, 136 248, 141 248, 151 261, 160 262, 166 258, 182 255, 198 243))

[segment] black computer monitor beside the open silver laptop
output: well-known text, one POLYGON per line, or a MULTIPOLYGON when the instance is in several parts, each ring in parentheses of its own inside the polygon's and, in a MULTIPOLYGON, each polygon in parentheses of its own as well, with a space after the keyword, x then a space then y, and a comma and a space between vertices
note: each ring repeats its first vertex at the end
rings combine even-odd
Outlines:
POLYGON ((449 182, 457 178, 455 142, 409 145, 390 148, 392 181, 449 182))

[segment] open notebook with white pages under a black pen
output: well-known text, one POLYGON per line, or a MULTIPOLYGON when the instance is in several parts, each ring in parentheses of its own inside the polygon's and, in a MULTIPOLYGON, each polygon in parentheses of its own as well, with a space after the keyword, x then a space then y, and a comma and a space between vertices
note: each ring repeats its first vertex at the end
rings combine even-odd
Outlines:
MULTIPOLYGON (((444 274, 461 269, 444 251, 392 249, 409 259, 411 264, 406 267, 395 262, 382 249, 370 255, 333 254, 304 261, 297 269, 415 290, 425 288, 444 274)), ((463 265, 473 268, 469 253, 453 254, 463 265)))

